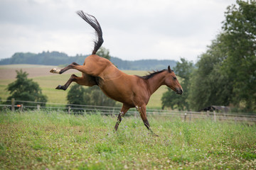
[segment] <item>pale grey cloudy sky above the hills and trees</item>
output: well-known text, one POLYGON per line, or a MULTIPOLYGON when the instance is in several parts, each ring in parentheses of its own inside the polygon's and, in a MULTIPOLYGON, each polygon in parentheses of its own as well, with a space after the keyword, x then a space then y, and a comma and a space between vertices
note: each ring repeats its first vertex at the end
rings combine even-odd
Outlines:
POLYGON ((122 60, 180 57, 196 62, 235 0, 1 0, 0 59, 15 52, 92 52, 94 30, 75 11, 95 16, 103 47, 122 60))

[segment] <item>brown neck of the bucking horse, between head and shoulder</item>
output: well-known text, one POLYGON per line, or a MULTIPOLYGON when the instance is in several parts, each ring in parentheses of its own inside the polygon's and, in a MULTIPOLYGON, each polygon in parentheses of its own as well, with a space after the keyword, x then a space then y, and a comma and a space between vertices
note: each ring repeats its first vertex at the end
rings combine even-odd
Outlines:
POLYGON ((151 94, 154 94, 154 92, 159 89, 160 86, 164 85, 164 73, 159 73, 155 75, 154 77, 148 79, 149 89, 151 91, 151 94))

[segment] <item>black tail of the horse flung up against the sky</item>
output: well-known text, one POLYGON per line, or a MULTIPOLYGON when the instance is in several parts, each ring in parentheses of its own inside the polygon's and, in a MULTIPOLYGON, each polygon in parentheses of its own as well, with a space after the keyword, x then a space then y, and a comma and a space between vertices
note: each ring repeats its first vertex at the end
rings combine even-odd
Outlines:
POLYGON ((88 13, 84 13, 83 11, 77 11, 78 16, 80 16, 83 20, 92 26, 92 28, 96 31, 96 40, 95 40, 95 47, 92 51, 92 55, 96 55, 97 50, 101 47, 102 43, 104 42, 102 38, 102 29, 100 27, 100 23, 98 23, 97 19, 94 16, 91 16, 88 13))

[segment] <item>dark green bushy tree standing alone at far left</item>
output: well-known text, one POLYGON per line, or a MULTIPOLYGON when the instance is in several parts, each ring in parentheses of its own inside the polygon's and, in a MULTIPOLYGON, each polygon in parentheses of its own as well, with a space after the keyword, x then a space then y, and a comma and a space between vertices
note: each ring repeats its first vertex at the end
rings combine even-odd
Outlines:
MULTIPOLYGON (((28 73, 23 72, 22 70, 16 70, 16 73, 16 81, 8 84, 8 87, 6 88, 6 90, 8 90, 11 94, 7 100, 15 98, 17 101, 44 102, 41 105, 45 106, 45 102, 47 102, 47 96, 42 94, 42 90, 38 83, 34 82, 32 79, 28 79, 28 73)), ((37 104, 30 103, 29 105, 36 106, 37 104)))

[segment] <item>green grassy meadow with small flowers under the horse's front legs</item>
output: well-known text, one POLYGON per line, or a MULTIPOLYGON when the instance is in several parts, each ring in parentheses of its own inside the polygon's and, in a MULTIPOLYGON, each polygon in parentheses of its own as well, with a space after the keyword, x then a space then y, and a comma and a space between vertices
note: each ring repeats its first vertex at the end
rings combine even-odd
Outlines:
POLYGON ((210 120, 183 122, 68 115, 0 114, 0 169, 256 169, 256 128, 210 120))

